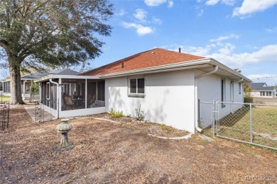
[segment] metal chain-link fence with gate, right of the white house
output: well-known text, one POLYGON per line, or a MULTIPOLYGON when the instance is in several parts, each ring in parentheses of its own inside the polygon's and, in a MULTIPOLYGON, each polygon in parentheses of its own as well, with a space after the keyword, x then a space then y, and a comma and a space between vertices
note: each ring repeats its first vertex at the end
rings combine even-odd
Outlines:
POLYGON ((277 105, 200 102, 199 109, 207 134, 277 150, 277 105))

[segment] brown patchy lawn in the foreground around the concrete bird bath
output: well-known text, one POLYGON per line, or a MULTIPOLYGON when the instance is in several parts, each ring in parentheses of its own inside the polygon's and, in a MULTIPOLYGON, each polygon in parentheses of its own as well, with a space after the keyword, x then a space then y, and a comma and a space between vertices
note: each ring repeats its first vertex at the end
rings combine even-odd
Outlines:
POLYGON ((75 119, 68 134, 74 148, 55 153, 60 120, 35 124, 21 107, 11 109, 10 120, 11 127, 0 132, 0 183, 242 183, 251 176, 277 178, 276 151, 224 139, 206 142, 197 134, 178 141, 158 139, 131 122, 75 119))

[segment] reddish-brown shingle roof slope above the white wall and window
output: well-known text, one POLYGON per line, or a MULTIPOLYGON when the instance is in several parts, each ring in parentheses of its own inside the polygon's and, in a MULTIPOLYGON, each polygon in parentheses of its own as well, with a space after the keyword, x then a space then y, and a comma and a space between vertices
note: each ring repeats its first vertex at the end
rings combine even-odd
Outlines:
POLYGON ((165 64, 175 64, 178 62, 188 62, 205 57, 195 56, 164 49, 153 49, 139 54, 134 54, 130 57, 120 59, 97 69, 86 71, 79 75, 97 76, 100 74, 112 74, 120 71, 130 71, 134 69, 144 69, 148 67, 157 67, 165 64), (124 67, 121 64, 124 63, 124 67))

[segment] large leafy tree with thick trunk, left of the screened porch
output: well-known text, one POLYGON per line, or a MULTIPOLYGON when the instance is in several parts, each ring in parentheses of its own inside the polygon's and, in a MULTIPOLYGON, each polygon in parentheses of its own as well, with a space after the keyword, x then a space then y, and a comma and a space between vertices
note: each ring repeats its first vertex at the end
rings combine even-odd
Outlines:
POLYGON ((0 47, 11 76, 11 104, 23 103, 23 67, 84 64, 102 53, 113 6, 107 0, 1 0, 0 47))

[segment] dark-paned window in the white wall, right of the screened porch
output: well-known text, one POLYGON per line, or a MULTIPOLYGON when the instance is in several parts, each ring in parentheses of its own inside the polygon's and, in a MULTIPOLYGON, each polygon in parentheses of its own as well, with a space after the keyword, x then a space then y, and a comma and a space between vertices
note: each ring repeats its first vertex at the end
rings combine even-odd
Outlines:
POLYGON ((129 79, 129 95, 143 96, 144 94, 144 78, 137 77, 129 79))

